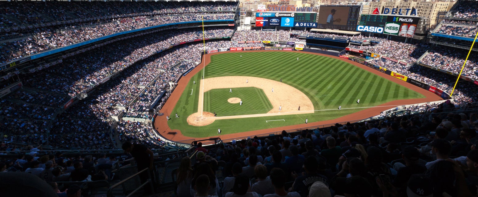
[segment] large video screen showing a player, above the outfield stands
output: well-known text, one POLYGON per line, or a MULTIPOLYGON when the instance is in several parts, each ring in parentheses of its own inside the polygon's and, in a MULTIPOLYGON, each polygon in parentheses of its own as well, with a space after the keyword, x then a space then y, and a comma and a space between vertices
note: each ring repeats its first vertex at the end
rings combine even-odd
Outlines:
POLYGON ((355 31, 360 10, 360 5, 321 5, 317 28, 355 31))

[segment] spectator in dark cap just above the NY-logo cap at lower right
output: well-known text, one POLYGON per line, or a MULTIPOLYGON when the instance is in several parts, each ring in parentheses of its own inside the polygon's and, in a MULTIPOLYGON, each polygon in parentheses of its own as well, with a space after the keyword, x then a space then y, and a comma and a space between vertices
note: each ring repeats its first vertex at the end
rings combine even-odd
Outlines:
POLYGON ((402 159, 405 165, 402 163, 395 163, 393 168, 397 171, 397 176, 393 180, 393 186, 404 189, 407 181, 414 174, 422 174, 426 171, 424 164, 419 161, 420 152, 413 146, 407 146, 402 150, 402 159))

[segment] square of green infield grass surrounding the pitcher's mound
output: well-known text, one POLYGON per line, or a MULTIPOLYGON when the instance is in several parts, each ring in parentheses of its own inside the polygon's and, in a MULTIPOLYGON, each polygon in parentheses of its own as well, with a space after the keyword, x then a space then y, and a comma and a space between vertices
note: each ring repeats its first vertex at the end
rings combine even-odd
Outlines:
POLYGON ((259 88, 229 88, 211 89, 204 93, 204 111, 216 112, 217 116, 238 116, 248 114, 267 113, 272 109, 272 104, 259 88), (229 98, 240 98, 239 103, 229 103, 229 98))

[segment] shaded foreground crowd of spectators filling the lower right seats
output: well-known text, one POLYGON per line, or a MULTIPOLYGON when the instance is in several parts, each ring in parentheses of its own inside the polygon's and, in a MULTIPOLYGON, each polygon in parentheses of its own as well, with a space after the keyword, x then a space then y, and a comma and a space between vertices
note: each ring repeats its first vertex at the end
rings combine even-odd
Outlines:
POLYGON ((220 143, 212 149, 199 143, 195 163, 189 157, 181 160, 177 194, 476 195, 478 116, 454 112, 451 105, 446 101, 434 111, 448 114, 389 116, 295 133, 282 131, 267 138, 220 143), (214 174, 219 162, 226 163, 224 180, 214 174))

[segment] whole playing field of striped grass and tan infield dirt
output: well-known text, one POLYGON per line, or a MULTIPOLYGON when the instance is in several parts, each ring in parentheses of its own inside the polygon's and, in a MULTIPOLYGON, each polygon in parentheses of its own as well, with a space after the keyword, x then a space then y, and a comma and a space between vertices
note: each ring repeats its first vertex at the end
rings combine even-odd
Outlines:
POLYGON ((204 138, 217 136, 218 129, 224 135, 310 124, 394 100, 425 98, 418 88, 346 61, 306 53, 212 54, 205 70, 188 74, 192 77, 174 108, 162 112, 172 118, 167 124, 173 131, 204 138))

